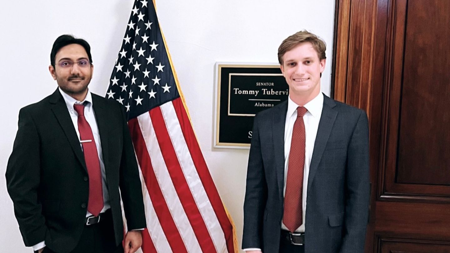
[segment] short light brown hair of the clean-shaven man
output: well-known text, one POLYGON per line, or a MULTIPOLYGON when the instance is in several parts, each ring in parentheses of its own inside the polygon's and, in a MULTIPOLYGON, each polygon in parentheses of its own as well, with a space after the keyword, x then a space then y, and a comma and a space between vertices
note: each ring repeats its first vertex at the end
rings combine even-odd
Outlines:
POLYGON ((284 54, 296 47, 297 45, 303 43, 303 42, 310 42, 317 52, 319 59, 326 59, 325 56, 325 41, 320 39, 315 34, 308 32, 306 30, 296 32, 293 35, 287 37, 279 46, 278 48, 278 62, 280 64, 283 64, 283 56, 284 54))

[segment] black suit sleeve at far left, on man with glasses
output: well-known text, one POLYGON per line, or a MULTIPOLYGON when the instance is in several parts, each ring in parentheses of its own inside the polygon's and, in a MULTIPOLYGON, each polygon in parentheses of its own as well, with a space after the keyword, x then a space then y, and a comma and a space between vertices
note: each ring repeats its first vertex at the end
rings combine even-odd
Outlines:
POLYGON ((19 112, 18 131, 5 176, 23 242, 31 247, 44 241, 47 228, 38 196, 40 140, 35 122, 24 108, 19 112))

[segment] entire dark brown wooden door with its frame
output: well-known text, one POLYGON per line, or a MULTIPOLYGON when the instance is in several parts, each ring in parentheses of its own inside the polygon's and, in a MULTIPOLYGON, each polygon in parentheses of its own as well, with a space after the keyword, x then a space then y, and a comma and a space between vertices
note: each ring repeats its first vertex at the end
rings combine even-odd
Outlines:
POLYGON ((369 115, 365 252, 450 252, 450 1, 336 8, 334 99, 369 115))

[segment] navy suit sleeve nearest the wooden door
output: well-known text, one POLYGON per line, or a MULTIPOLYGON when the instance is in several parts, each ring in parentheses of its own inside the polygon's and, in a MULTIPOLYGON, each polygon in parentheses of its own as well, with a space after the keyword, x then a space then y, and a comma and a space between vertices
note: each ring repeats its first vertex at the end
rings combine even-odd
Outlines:
POLYGON ((346 171, 346 206, 340 253, 364 252, 369 216, 369 124, 361 111, 352 133, 346 171))

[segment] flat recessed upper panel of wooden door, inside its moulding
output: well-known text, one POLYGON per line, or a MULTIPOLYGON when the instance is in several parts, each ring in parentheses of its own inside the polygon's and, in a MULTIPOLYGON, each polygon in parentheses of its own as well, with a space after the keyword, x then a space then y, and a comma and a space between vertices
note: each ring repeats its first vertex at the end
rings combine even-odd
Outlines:
POLYGON ((450 1, 409 1, 405 13, 396 181, 450 185, 450 1))

